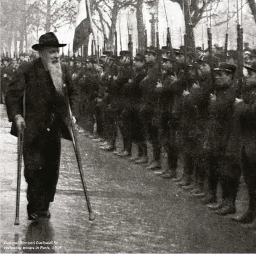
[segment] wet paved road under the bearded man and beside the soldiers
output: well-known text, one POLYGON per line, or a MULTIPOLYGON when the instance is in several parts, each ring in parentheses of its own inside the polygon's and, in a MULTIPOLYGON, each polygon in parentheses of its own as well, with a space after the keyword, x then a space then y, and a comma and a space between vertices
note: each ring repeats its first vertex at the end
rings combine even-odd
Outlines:
MULTIPOLYGON (((1 253, 256 252, 254 231, 215 215, 172 181, 99 150, 84 136, 79 140, 95 221, 88 218, 72 143, 63 140, 52 218, 27 221, 22 176, 21 224, 14 226, 17 141, 9 132, 1 105, 1 253)), ((246 205, 240 202, 238 213, 246 205)))

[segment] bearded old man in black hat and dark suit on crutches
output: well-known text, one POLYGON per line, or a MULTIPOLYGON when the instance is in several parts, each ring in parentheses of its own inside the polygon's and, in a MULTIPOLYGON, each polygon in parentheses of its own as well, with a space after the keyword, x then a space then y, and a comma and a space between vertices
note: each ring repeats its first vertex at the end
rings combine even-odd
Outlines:
POLYGON ((27 212, 30 220, 50 218, 59 176, 61 136, 71 140, 69 102, 73 121, 78 119, 78 93, 66 65, 59 59, 59 44, 54 33, 45 33, 32 46, 39 58, 22 65, 6 95, 11 134, 24 128, 24 176, 27 187, 27 212), (25 119, 22 101, 25 93, 25 119), (69 102, 68 102, 69 101, 69 102))

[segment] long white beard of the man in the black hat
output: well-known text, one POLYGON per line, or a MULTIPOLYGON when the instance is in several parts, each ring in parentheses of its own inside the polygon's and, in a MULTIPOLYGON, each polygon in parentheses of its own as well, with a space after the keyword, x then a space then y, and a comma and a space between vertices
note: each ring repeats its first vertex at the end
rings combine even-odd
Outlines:
POLYGON ((62 69, 60 62, 48 62, 47 69, 49 70, 53 85, 55 86, 57 93, 59 93, 59 95, 64 95, 62 69))

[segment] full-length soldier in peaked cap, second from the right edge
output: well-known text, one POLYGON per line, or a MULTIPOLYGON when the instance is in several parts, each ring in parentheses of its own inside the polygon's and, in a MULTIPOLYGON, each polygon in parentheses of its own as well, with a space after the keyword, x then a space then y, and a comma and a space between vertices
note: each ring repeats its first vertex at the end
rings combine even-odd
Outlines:
POLYGON ((235 65, 226 63, 221 63, 219 68, 214 69, 216 95, 211 95, 207 135, 204 143, 204 149, 208 153, 209 190, 203 202, 217 202, 217 185, 220 182, 222 202, 208 205, 220 215, 235 213, 235 206, 228 199, 229 190, 222 171, 223 162, 226 159, 227 142, 231 133, 230 125, 235 101, 235 87, 233 85, 235 70, 235 65))

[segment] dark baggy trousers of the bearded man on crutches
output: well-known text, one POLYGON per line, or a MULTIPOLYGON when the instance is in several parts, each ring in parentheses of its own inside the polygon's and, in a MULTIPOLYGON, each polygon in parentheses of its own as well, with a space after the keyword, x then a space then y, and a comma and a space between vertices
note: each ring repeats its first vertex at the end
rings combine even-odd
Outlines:
MULTIPOLYGON (((50 132, 53 132, 51 130, 50 132)), ((27 200, 30 212, 47 210, 54 200, 59 177, 61 133, 39 136, 24 144, 24 176, 27 181, 27 200)))

